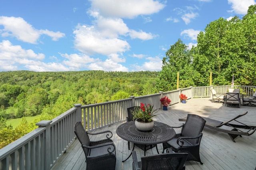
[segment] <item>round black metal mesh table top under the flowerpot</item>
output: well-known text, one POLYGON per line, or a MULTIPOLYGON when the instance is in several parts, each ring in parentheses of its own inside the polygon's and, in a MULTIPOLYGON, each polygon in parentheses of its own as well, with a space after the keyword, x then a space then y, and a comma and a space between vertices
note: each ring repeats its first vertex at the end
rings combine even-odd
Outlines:
POLYGON ((142 132, 135 127, 135 121, 130 121, 120 125, 116 129, 116 134, 124 140, 137 144, 159 144, 171 140, 176 133, 169 125, 156 121, 152 130, 142 132))

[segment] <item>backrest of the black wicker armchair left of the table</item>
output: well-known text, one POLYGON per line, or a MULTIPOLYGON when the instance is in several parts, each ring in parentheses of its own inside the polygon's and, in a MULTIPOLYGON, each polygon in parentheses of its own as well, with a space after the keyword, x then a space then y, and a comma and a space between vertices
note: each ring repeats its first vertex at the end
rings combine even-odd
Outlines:
MULTIPOLYGON (((78 140, 80 141, 80 143, 84 144, 86 146, 90 146, 90 138, 89 138, 87 132, 84 130, 84 127, 83 127, 82 123, 77 122, 75 124, 74 128, 75 128, 75 130, 74 130, 75 134, 76 134, 78 140)), ((85 156, 88 156, 89 149, 83 147, 83 150, 84 150, 85 156)))

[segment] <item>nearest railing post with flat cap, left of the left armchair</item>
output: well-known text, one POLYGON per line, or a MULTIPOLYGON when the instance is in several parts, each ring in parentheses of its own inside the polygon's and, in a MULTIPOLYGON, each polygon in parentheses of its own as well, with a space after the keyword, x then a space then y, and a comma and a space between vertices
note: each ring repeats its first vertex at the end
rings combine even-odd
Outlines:
MULTIPOLYGON (((36 123, 38 128, 45 128, 45 136, 44 136, 44 169, 51 169, 51 160, 50 160, 50 152, 51 152, 51 132, 50 132, 50 123, 52 121, 40 121, 36 123)), ((43 147, 43 146, 42 146, 43 147)))

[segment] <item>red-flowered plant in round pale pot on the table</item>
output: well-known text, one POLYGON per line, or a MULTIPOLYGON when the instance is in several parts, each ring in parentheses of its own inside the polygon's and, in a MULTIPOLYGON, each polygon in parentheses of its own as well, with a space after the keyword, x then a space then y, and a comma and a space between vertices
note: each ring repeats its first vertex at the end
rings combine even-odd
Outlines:
POLYGON ((153 106, 144 103, 140 103, 140 107, 137 107, 132 111, 133 120, 135 120, 135 126, 138 130, 149 131, 154 127, 153 117, 156 116, 157 111, 153 110, 153 106))

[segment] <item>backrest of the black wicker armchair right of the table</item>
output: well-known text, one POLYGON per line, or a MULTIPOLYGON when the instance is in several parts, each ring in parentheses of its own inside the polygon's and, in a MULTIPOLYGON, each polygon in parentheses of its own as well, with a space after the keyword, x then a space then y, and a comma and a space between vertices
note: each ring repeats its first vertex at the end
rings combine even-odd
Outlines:
POLYGON ((181 135, 186 137, 193 137, 199 135, 206 123, 204 118, 198 115, 188 114, 187 120, 182 128, 181 135))

